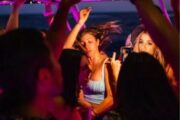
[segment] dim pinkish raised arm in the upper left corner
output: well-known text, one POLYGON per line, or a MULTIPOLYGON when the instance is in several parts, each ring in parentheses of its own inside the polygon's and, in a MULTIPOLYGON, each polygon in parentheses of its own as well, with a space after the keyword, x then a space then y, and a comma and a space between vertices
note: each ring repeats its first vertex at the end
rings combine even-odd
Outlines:
POLYGON ((9 16, 5 32, 8 32, 19 27, 19 10, 24 4, 25 0, 16 0, 12 6, 12 12, 9 16))

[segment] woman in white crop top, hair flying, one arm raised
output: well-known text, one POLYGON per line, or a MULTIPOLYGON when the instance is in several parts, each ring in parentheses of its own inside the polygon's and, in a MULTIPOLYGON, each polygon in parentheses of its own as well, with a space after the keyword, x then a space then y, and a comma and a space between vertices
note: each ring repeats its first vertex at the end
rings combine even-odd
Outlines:
POLYGON ((85 28, 80 32, 89 14, 90 8, 80 11, 80 19, 65 41, 64 48, 72 48, 76 39, 80 49, 85 52, 80 64, 79 80, 81 89, 79 104, 91 110, 95 117, 108 111, 113 105, 113 97, 109 84, 107 56, 102 47, 109 42, 110 33, 119 33, 119 26, 115 21, 103 25, 85 28))

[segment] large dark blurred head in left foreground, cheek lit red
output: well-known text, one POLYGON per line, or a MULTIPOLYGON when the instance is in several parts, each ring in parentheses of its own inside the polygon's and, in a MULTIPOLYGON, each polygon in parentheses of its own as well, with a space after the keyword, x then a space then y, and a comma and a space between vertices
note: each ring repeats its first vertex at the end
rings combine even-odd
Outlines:
POLYGON ((0 114, 20 114, 37 97, 53 97, 61 87, 60 66, 33 29, 0 36, 0 114))

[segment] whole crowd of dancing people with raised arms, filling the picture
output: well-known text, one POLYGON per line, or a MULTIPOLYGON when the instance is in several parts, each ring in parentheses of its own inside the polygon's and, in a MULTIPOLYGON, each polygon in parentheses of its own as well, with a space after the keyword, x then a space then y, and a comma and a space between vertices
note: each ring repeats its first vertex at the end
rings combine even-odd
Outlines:
MULTIPOLYGON (((81 1, 62 0, 55 15, 47 1, 49 30, 19 28, 24 2, 15 1, 0 31, 0 119, 179 119, 179 28, 152 0, 131 0, 142 25, 123 61, 103 51, 121 33, 117 21, 85 28, 86 7, 67 32, 70 8, 81 1)), ((171 4, 179 25, 178 0, 171 4)))

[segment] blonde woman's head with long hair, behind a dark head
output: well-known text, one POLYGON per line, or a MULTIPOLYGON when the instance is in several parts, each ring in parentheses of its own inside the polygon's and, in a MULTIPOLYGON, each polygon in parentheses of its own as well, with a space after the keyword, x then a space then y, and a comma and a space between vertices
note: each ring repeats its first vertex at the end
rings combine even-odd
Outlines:
POLYGON ((150 34, 144 30, 136 39, 134 52, 146 52, 154 56, 162 65, 165 66, 164 56, 159 47, 154 43, 150 34))

